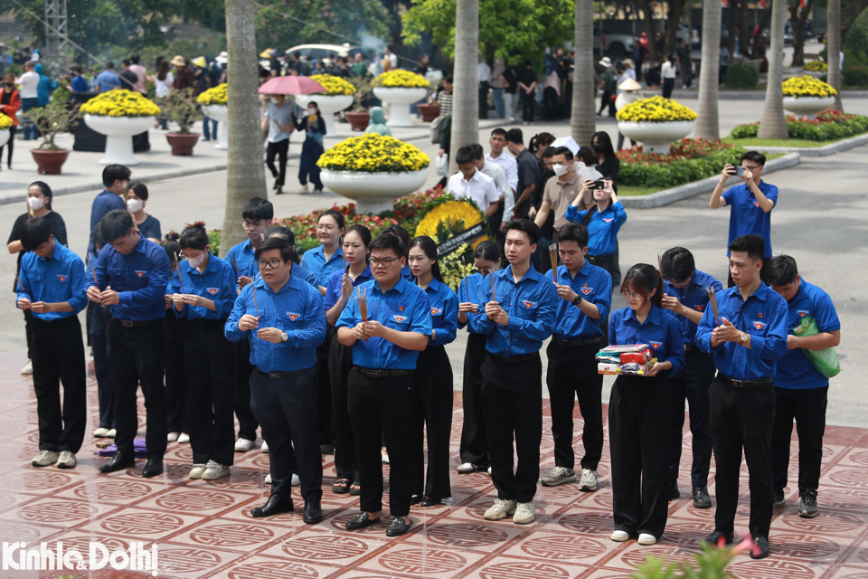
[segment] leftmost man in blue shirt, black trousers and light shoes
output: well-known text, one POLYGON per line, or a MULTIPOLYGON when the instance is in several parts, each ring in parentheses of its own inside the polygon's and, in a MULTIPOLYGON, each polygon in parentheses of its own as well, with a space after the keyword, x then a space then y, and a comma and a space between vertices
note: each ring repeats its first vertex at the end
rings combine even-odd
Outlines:
POLYGON ((87 423, 87 370, 78 318, 87 304, 84 266, 54 239, 47 219, 28 219, 20 235, 26 253, 17 304, 33 313, 33 390, 39 417, 39 454, 33 466, 56 462, 59 469, 71 469, 87 423))

